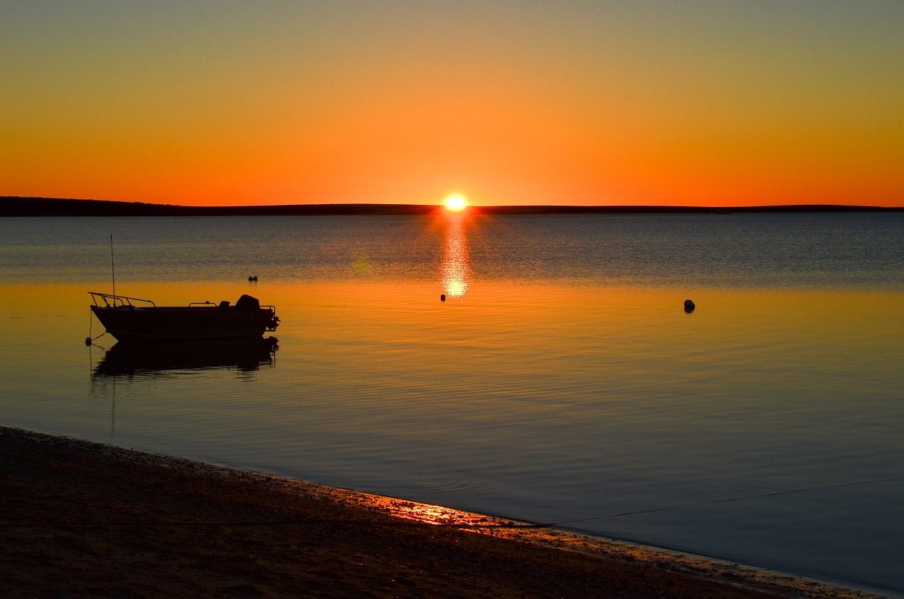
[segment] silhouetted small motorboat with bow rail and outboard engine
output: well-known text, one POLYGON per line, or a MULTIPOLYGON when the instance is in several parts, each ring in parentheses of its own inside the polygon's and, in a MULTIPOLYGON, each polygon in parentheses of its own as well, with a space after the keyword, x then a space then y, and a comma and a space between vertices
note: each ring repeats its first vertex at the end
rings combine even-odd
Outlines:
POLYGON ((259 338, 264 331, 274 331, 279 326, 276 308, 261 306, 257 298, 247 294, 234 306, 229 301, 157 306, 150 299, 88 293, 94 300, 91 311, 119 341, 259 338))

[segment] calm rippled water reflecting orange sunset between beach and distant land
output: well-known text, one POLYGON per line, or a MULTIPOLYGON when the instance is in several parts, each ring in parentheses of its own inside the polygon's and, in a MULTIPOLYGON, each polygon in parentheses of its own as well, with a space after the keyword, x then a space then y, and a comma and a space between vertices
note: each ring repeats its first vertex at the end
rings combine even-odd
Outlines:
POLYGON ((904 596, 904 214, 2 219, 0 278, 2 423, 904 596), (111 233, 278 349, 85 347, 111 233))

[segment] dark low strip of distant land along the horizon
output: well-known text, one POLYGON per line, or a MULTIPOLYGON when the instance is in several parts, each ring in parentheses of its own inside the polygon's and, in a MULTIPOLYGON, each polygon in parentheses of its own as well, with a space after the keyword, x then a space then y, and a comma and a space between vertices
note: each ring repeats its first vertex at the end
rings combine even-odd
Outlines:
MULTIPOLYGON (((0 196, 0 216, 306 216, 438 214, 432 204, 276 204, 245 206, 184 206, 108 200, 0 196)), ((732 214, 902 212, 904 207, 841 204, 768 206, 646 206, 646 205, 499 205, 474 206, 480 214, 732 214)))

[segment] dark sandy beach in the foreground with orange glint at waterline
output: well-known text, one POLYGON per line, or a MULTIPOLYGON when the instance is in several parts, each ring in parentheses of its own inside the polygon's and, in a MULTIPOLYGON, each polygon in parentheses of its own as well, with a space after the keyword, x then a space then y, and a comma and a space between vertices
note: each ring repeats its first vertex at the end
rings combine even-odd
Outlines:
POLYGON ((2 597, 866 597, 0 426, 2 597))

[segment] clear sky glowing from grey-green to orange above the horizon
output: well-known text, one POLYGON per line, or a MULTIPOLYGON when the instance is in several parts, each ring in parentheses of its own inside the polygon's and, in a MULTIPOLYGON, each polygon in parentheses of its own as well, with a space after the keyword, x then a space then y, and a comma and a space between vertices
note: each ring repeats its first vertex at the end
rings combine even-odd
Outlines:
POLYGON ((0 3, 0 195, 904 205, 901 0, 0 3))

